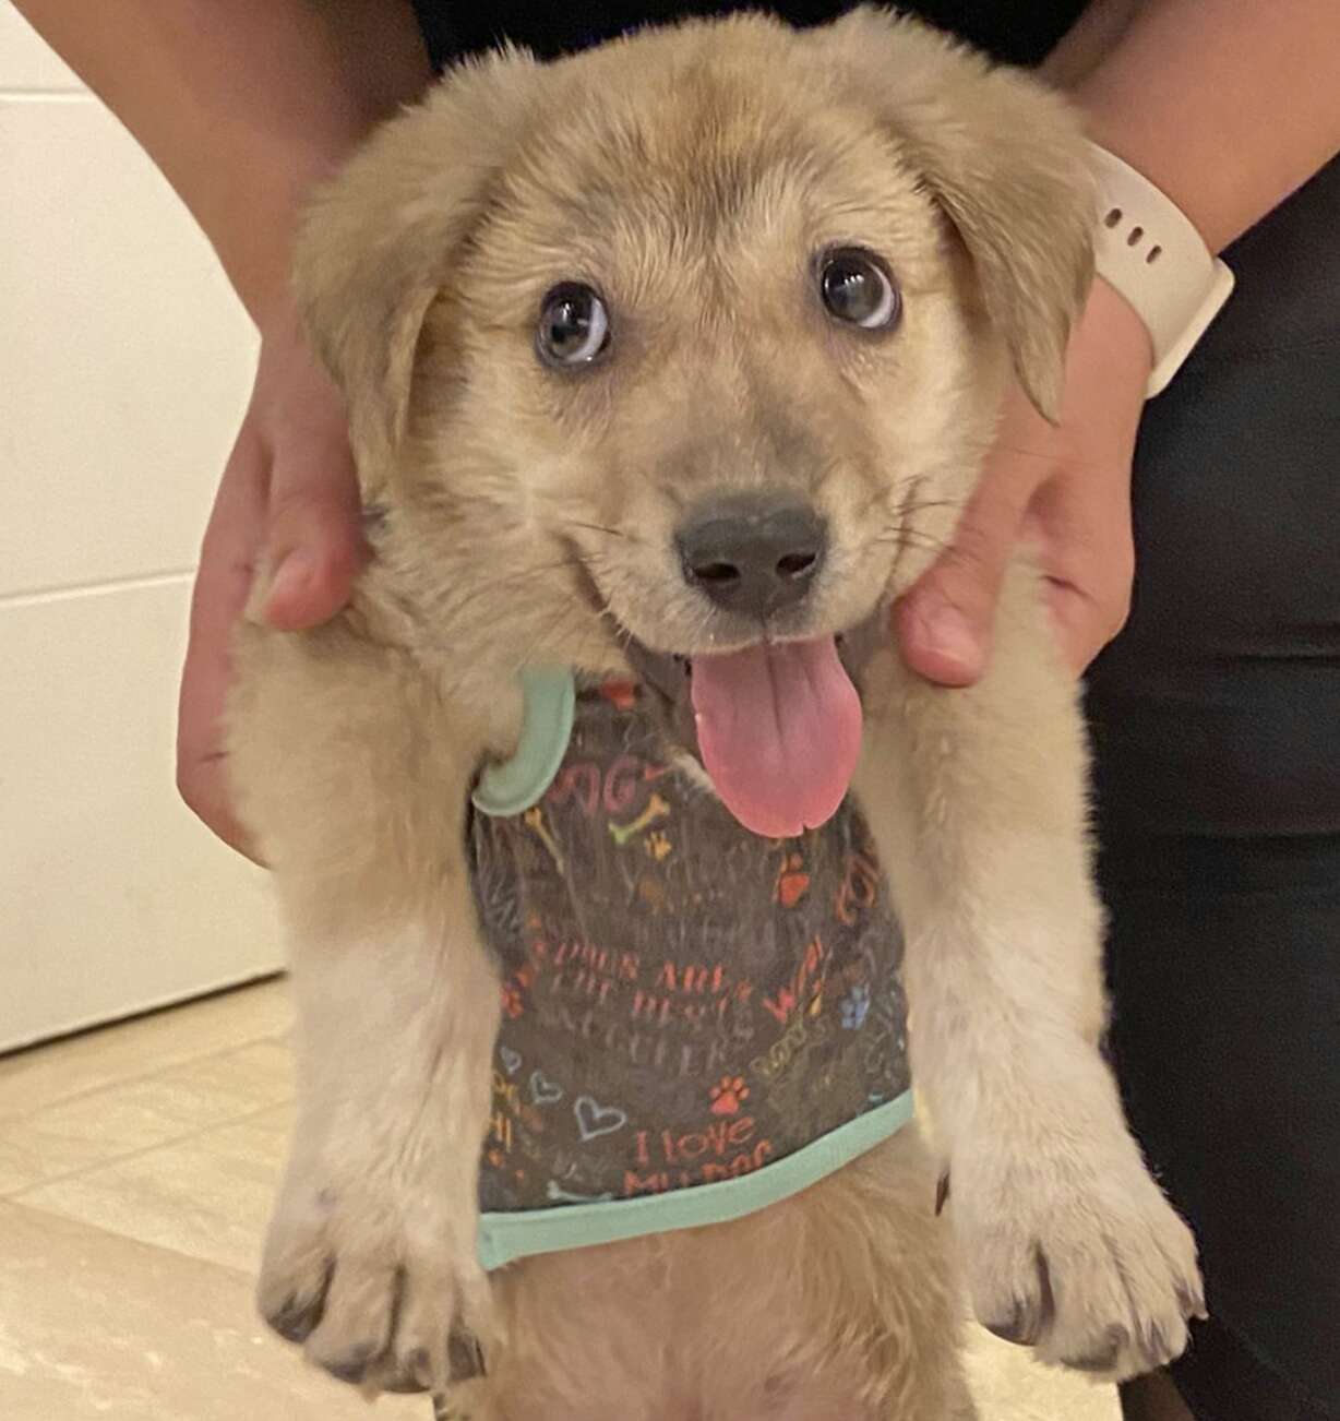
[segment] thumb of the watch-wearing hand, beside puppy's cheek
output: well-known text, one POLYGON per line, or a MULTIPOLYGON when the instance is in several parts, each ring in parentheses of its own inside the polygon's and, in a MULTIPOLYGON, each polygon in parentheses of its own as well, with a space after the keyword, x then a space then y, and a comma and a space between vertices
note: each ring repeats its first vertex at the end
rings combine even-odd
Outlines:
POLYGON ((948 549, 899 598, 894 627, 918 675, 945 686, 978 681, 990 657, 996 600, 1019 524, 1046 463, 998 453, 948 549))

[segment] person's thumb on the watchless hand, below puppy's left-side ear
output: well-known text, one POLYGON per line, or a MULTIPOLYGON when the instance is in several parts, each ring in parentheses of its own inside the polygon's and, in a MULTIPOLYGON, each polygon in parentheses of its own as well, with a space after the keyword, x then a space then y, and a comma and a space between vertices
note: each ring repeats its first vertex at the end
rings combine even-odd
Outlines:
POLYGON ((328 621, 348 601, 362 561, 358 479, 344 438, 277 450, 266 554, 266 620, 281 631, 328 621))

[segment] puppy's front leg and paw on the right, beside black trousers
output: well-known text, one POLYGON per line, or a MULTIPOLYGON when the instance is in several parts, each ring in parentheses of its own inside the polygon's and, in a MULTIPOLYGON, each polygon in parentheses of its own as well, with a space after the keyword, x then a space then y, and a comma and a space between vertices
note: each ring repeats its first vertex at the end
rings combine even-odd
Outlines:
POLYGON ((1083 725, 1036 574, 1012 573, 979 685, 926 685, 885 652, 867 705, 858 790, 978 1316, 1046 1360, 1160 1366, 1204 1306, 1195 1245, 1100 1054, 1083 725))

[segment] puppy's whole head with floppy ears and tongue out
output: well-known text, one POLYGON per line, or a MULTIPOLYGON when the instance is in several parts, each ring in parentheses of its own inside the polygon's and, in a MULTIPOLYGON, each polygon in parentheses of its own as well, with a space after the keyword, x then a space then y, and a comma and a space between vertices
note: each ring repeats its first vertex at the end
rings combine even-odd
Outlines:
POLYGON ((468 71, 355 162, 300 279, 445 641, 676 658, 718 787, 769 719, 854 759, 841 638, 948 527, 1006 352, 1054 396, 1087 276, 1059 107, 992 85, 874 13, 698 24, 468 71))

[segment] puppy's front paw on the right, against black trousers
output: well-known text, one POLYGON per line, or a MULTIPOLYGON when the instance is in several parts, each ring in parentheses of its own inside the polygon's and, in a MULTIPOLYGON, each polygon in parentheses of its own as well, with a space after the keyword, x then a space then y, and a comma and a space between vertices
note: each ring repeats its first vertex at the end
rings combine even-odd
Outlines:
POLYGON ((1111 1380, 1161 1367, 1205 1316, 1191 1231, 1124 1127, 1020 1150, 975 1141, 953 1169, 955 1228, 988 1330, 1111 1380))

